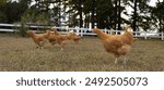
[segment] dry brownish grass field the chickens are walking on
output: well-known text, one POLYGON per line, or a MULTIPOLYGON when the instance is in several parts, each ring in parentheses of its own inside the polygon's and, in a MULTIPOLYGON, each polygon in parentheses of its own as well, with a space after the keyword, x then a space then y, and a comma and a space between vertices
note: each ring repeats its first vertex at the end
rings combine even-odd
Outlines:
POLYGON ((84 36, 63 51, 48 42, 36 49, 30 37, 0 34, 0 72, 164 72, 164 41, 139 39, 132 44, 126 67, 115 64, 97 37, 84 36))

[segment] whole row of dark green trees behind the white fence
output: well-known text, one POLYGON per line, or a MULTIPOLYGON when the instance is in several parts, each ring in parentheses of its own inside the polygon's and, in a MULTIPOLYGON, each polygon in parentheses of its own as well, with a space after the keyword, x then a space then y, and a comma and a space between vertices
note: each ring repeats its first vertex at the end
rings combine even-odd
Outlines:
POLYGON ((133 27, 151 28, 152 25, 164 30, 164 2, 155 8, 150 0, 0 0, 0 23, 15 23, 26 20, 25 24, 61 25, 62 18, 68 26, 120 29, 120 24, 132 24, 133 27), (35 2, 35 4, 31 4, 35 2), (121 4, 120 4, 121 3, 121 4), (134 5, 136 3, 136 5, 134 5), (126 4, 133 9, 132 14, 125 11, 126 4), (136 8, 134 8, 134 7, 136 8), (125 20, 121 13, 130 16, 125 20), (148 15, 149 14, 149 15, 148 15), (26 18, 22 18, 26 17, 26 18))

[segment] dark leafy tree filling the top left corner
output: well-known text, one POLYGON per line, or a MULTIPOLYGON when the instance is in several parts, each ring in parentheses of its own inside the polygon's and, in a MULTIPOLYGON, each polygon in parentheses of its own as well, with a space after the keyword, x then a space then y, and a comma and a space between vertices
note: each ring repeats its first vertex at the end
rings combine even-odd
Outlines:
POLYGON ((21 16, 23 13, 28 9, 28 4, 31 0, 19 0, 16 1, 11 1, 11 0, 2 0, 5 1, 3 3, 0 3, 0 13, 1 16, 3 16, 3 20, 0 20, 0 22, 5 22, 5 23, 15 23, 21 21, 21 16))

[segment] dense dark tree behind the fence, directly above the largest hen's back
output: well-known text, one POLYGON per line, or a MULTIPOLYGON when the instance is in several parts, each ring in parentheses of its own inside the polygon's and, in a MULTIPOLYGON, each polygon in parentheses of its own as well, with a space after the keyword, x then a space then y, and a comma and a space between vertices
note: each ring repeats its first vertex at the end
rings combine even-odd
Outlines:
POLYGON ((116 25, 115 7, 112 0, 96 1, 96 21, 99 28, 113 28, 116 25))

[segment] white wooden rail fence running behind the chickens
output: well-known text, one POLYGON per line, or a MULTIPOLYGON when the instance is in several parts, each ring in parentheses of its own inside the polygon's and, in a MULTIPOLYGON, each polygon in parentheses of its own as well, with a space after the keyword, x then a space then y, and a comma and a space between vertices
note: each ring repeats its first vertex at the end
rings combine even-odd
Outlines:
MULTIPOLYGON (((17 31, 14 27, 20 27, 21 25, 19 24, 0 24, 0 31, 17 31), (5 27, 5 28, 4 28, 5 27), (10 27, 10 28, 7 28, 10 27)), ((31 28, 51 28, 50 26, 30 26, 31 28)), ((61 31, 61 34, 67 34, 69 30, 74 30, 78 35, 80 36, 92 36, 96 35, 92 33, 92 29, 90 28, 78 28, 78 27, 55 27, 61 31)), ((122 30, 112 30, 112 29, 102 29, 106 34, 114 34, 114 35, 119 35, 122 34, 122 30)), ((164 33, 148 33, 148 31, 133 31, 134 37, 138 38, 159 38, 161 40, 164 40, 164 33)))

